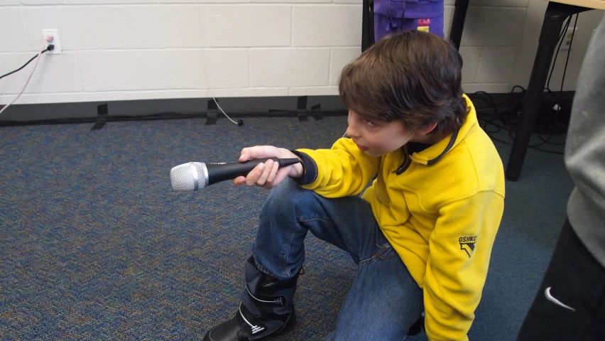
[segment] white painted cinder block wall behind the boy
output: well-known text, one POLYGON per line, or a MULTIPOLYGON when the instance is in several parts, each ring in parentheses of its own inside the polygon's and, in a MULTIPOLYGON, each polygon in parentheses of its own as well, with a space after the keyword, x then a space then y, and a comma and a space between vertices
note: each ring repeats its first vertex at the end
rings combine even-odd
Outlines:
MULTIPOLYGON (((547 1, 470 2, 464 90, 525 87, 547 1)), ((454 0, 445 3, 447 35, 454 0)), ((587 16, 576 73, 602 14, 587 16)), ((0 0, 0 74, 38 51, 42 28, 58 29, 63 53, 43 56, 18 103, 337 94, 340 70, 361 53, 361 0, 0 0)), ((31 67, 0 80, 0 104, 31 67)))

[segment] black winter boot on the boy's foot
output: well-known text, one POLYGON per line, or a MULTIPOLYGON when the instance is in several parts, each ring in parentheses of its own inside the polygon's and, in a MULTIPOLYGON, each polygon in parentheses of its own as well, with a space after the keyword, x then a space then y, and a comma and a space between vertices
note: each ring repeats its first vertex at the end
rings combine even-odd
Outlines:
POLYGON ((263 274, 254 264, 254 257, 246 261, 246 291, 235 316, 208 330, 204 341, 259 340, 288 332, 295 325, 294 304, 298 274, 287 281, 278 281, 263 274))

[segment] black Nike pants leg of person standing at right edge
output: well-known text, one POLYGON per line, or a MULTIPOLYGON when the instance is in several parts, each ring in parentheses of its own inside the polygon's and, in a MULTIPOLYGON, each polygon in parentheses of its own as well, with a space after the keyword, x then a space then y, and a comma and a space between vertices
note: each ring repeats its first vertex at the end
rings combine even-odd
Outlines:
POLYGON ((566 221, 517 340, 605 340, 604 320, 605 269, 566 221))

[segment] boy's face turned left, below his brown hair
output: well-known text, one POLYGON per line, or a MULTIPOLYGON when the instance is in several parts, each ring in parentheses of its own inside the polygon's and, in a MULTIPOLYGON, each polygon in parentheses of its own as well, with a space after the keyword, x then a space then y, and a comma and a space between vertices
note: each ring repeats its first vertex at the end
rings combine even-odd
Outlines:
POLYGON ((414 134, 400 121, 372 122, 349 110, 349 136, 357 147, 369 156, 382 156, 396 151, 413 138, 414 134))

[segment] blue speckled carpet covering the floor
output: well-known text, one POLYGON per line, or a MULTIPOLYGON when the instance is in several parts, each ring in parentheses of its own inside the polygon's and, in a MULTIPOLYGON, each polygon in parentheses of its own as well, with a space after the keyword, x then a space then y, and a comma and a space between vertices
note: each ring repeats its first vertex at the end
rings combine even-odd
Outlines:
MULTIPOLYGON (((328 148, 346 117, 109 122, 0 129, 0 340, 201 340, 234 313, 267 195, 229 182, 174 192, 170 168, 236 161, 254 144, 328 148)), ((498 144, 504 161, 510 146, 498 144)), ((513 340, 572 189, 562 156, 530 150, 506 210, 471 340, 513 340)), ((299 324, 322 340, 354 278, 347 254, 307 238, 299 324)), ((408 340, 426 340, 425 335, 408 340)))

